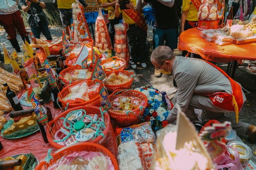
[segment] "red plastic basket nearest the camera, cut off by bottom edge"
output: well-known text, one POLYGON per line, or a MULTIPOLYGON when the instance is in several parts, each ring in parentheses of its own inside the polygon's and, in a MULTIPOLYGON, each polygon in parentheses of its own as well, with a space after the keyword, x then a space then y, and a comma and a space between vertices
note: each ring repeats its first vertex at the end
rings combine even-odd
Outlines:
MULTIPOLYGON (((58 151, 54 152, 51 155, 53 157, 53 159, 51 159, 49 163, 42 161, 39 163, 39 165, 36 166, 35 170, 45 170, 49 166, 56 163, 63 156, 66 157, 73 152, 82 152, 82 151, 100 152, 105 156, 109 156, 114 167, 115 167, 115 170, 119 169, 115 156, 107 148, 105 148, 104 146, 101 146, 99 144, 95 144, 95 143, 91 143, 91 142, 83 142, 83 143, 76 143, 73 145, 65 146, 64 148, 59 149, 58 151)), ((45 155, 45 156, 47 156, 47 155, 45 155)))

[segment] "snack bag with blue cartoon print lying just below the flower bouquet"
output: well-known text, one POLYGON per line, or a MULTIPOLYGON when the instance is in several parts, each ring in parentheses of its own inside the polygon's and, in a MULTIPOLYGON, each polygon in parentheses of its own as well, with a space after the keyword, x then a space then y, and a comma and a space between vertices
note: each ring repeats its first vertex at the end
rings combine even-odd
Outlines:
POLYGON ((127 128, 116 129, 117 145, 132 139, 136 139, 140 144, 151 143, 154 145, 156 136, 152 131, 151 122, 149 121, 141 124, 135 124, 127 128))

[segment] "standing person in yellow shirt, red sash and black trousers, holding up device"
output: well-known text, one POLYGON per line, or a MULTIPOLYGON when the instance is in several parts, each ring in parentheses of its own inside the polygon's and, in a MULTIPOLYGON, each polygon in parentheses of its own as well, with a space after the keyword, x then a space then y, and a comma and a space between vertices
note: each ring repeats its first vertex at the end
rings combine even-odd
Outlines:
POLYGON ((127 31, 127 40, 130 51, 130 64, 133 69, 137 68, 137 63, 140 62, 141 67, 146 68, 146 38, 147 38, 147 24, 143 18, 143 10, 137 10, 136 0, 130 0, 130 4, 125 5, 126 10, 120 10, 119 1, 116 1, 115 16, 116 18, 122 13, 129 29, 127 31), (132 11, 133 10, 133 11, 132 11), (127 12, 127 14, 126 14, 127 12), (128 14, 131 16, 129 17, 128 14), (139 14, 139 15, 138 15, 139 14), (136 16, 135 16, 136 15, 136 16), (139 21, 135 22, 139 18, 139 21), (139 45, 139 56, 136 55, 136 38, 139 45))

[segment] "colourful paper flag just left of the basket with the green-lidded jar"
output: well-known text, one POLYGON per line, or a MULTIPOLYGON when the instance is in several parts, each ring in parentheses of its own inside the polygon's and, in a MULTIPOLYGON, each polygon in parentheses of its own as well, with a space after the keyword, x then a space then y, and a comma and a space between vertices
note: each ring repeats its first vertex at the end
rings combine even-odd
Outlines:
POLYGON ((40 102, 38 101, 36 94, 34 93, 30 84, 26 84, 28 87, 28 95, 30 96, 30 100, 33 108, 35 109, 35 113, 37 116, 37 120, 40 124, 44 125, 48 122, 48 118, 46 112, 44 112, 40 102))

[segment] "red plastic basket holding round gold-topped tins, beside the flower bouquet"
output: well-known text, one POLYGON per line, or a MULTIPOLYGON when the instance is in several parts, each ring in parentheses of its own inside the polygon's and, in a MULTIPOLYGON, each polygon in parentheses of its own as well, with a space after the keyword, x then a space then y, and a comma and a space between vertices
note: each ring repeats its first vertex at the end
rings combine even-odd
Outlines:
POLYGON ((110 102, 114 101, 116 98, 119 98, 121 96, 127 96, 127 97, 137 97, 139 98, 142 102, 145 101, 145 104, 143 105, 143 109, 140 110, 134 109, 132 110, 134 113, 129 112, 128 116, 126 113, 118 113, 114 112, 112 110, 108 111, 109 116, 119 125, 123 127, 131 126, 133 124, 138 124, 140 122, 140 117, 143 116, 144 110, 147 107, 148 104, 148 98, 141 92, 136 91, 136 90, 122 90, 118 89, 115 90, 111 95, 108 96, 110 102), (135 112, 136 115, 135 115, 135 112), (138 117, 140 116, 140 117, 138 117))

